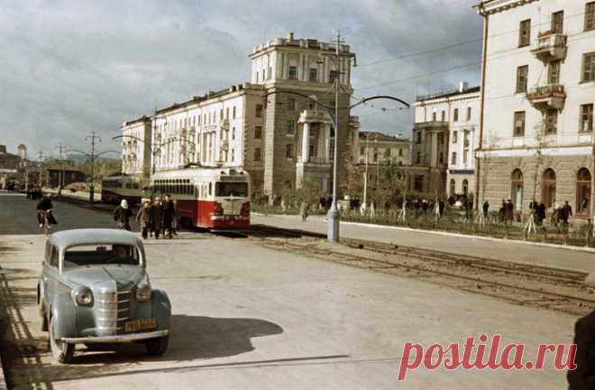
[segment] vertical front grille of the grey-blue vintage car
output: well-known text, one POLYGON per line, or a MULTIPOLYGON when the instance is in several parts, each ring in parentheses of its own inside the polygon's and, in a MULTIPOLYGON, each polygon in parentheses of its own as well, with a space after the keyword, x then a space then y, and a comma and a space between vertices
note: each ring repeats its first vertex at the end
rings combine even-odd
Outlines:
POLYGON ((130 319, 132 290, 97 295, 97 329, 102 335, 124 331, 124 322, 130 319))

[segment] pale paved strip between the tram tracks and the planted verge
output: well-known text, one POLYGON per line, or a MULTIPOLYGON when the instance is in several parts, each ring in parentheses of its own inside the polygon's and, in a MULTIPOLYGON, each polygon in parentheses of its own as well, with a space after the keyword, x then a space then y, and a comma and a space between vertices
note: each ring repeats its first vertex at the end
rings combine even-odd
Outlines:
MULTIPOLYGON (((311 216, 306 223, 302 223, 298 215, 265 216, 252 213, 252 223, 318 233, 326 233, 327 230, 325 217, 318 215, 311 216)), ((500 240, 443 231, 420 231, 358 222, 341 222, 341 236, 530 265, 595 272, 595 251, 589 248, 500 240)))

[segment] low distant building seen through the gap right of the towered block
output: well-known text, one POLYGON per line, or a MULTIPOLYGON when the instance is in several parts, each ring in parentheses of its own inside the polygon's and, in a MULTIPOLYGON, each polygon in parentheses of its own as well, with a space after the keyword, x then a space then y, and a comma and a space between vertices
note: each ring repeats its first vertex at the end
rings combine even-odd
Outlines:
POLYGON ((354 145, 359 164, 377 164, 385 159, 398 165, 411 164, 411 141, 402 135, 394 136, 382 132, 360 132, 354 145), (367 158, 366 158, 367 156, 367 158))

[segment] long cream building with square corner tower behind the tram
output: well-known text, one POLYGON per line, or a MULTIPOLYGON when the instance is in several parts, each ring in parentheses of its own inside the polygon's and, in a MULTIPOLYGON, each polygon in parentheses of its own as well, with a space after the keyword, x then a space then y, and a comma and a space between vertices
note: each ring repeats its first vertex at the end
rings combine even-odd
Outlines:
MULTIPOLYGON (((349 140, 359 131, 357 118, 344 109, 352 95, 355 55, 341 44, 335 64, 334 51, 334 44, 295 39, 292 33, 255 47, 249 56, 251 83, 195 96, 151 116, 151 164, 157 170, 188 163, 241 167, 251 173, 253 190, 267 195, 300 186, 307 178, 330 190, 334 111, 329 107, 335 104, 335 79, 342 107, 338 161, 345 161, 349 140)), ((142 127, 137 121, 124 123, 123 132, 136 132, 142 127)), ((142 163, 136 153, 138 167, 142 163)), ((345 176, 344 164, 338 176, 345 176)))

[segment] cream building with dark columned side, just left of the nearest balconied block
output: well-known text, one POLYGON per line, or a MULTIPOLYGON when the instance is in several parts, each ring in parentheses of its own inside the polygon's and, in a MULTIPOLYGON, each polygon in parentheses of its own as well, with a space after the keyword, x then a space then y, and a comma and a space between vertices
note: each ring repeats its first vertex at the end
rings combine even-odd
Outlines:
POLYGON ((412 189, 428 195, 469 195, 475 184, 480 87, 417 96, 412 134, 412 189))

